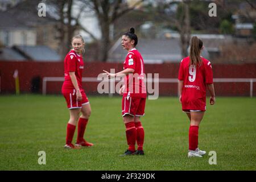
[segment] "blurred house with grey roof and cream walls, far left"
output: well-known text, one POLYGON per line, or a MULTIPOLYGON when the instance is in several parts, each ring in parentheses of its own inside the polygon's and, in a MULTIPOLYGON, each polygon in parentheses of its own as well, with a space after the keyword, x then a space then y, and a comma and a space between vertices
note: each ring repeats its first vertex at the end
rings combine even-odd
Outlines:
POLYGON ((0 42, 4 46, 35 46, 43 45, 57 50, 58 23, 47 14, 38 16, 39 1, 20 1, 20 3, 0 11, 0 42))

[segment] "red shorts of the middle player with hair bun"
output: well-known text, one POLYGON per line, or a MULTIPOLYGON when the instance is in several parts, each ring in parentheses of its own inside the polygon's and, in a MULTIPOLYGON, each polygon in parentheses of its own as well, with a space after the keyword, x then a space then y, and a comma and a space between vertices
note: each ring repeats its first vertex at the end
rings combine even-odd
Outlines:
POLYGON ((144 115, 146 98, 124 97, 122 100, 122 116, 126 114, 142 117, 144 115))

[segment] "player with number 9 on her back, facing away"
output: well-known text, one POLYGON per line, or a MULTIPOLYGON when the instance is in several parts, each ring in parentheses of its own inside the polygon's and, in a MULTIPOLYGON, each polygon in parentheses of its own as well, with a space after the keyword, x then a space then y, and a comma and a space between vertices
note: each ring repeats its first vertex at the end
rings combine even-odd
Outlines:
POLYGON ((206 110, 206 90, 210 92, 210 105, 215 102, 213 73, 210 61, 200 56, 203 42, 193 36, 189 56, 181 60, 179 69, 179 94, 182 110, 190 120, 188 157, 201 157, 205 151, 198 148, 199 125, 206 110))

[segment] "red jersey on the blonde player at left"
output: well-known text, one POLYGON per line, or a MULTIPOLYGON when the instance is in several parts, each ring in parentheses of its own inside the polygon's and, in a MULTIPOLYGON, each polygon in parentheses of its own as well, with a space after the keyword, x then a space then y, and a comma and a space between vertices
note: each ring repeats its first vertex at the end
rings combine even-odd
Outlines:
POLYGON ((64 76, 65 80, 63 83, 63 88, 73 89, 71 78, 69 72, 75 72, 77 84, 79 88, 82 89, 82 71, 84 70, 84 61, 82 56, 77 54, 74 50, 71 50, 64 60, 64 76))

